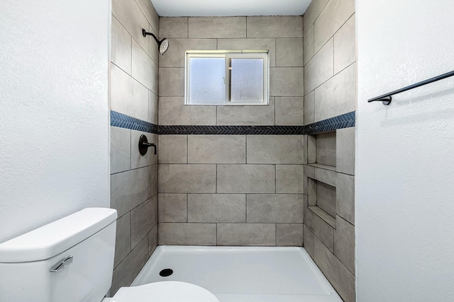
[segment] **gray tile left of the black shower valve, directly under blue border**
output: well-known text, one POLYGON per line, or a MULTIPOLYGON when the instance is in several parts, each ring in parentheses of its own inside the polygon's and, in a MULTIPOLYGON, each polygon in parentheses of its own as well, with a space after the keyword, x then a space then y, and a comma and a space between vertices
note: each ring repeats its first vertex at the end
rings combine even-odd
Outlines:
POLYGON ((131 130, 111 127, 111 174, 131 169, 131 130))

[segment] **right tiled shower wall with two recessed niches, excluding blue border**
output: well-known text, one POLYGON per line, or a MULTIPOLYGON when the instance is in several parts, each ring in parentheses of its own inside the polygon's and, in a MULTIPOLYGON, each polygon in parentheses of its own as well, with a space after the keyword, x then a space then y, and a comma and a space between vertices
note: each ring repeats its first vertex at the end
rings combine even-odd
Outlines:
MULTIPOLYGON (((303 23, 304 124, 355 111, 355 1, 313 0, 303 23)), ((310 135, 306 148, 304 248, 355 301, 355 128, 310 135)))

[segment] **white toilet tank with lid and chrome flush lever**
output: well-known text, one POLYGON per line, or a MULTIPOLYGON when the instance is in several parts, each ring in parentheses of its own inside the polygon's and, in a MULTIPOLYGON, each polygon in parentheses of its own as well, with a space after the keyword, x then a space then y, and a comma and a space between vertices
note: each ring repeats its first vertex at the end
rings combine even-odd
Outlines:
POLYGON ((87 208, 1 243, 0 302, 101 301, 112 282, 116 217, 87 208))

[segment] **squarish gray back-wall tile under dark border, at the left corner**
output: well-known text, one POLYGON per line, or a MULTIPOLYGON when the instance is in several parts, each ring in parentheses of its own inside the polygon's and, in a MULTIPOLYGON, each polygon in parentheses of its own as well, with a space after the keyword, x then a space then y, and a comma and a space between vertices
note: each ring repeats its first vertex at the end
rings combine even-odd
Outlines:
POLYGON ((159 149, 159 163, 187 163, 187 135, 160 135, 159 149))

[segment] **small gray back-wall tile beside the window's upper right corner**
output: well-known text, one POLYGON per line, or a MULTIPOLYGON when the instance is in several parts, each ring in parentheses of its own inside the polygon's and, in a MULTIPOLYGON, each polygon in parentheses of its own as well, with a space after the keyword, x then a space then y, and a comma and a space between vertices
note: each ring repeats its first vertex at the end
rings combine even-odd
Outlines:
POLYGON ((276 39, 276 66, 303 66, 303 39, 301 37, 276 39))

